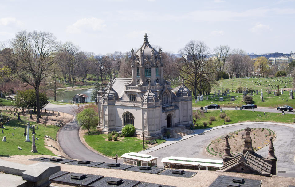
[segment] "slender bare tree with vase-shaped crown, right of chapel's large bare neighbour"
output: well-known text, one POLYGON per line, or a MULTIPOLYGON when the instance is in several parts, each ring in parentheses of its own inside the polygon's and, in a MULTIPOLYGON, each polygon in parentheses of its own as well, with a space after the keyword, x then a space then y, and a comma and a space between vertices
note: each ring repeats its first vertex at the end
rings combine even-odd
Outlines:
POLYGON ((228 45, 220 45, 213 49, 214 51, 214 62, 216 67, 220 72, 224 72, 224 65, 228 59, 230 46, 228 45))

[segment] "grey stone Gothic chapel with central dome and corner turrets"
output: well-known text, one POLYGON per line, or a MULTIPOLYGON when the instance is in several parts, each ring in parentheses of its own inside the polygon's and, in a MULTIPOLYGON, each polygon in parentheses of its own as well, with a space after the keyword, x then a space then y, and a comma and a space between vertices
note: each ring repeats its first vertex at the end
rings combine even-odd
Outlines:
MULTIPOLYGON (((143 45, 132 52, 131 78, 113 76, 105 89, 97 92, 97 128, 104 133, 121 131, 132 124, 136 135, 159 138, 167 129, 192 124, 192 96, 182 83, 176 93, 164 80, 162 49, 155 50, 144 35, 143 45)), ((170 132, 171 132, 170 131, 170 132)))

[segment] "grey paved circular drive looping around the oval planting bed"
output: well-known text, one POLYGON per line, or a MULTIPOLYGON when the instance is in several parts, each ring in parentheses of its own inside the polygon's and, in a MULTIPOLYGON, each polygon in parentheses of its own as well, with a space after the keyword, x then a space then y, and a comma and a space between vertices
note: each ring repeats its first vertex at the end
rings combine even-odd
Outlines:
MULTIPOLYGON (((264 127, 272 129, 276 132, 276 139, 273 142, 275 155, 277 156, 277 171, 286 171, 286 173, 277 173, 281 176, 295 177, 295 162, 294 162, 294 144, 295 144, 295 128, 273 125, 273 124, 246 124, 219 128, 209 132, 204 132, 200 135, 179 141, 167 147, 152 151, 149 155, 158 157, 158 166, 163 167, 161 159, 169 156, 190 157, 190 158, 207 158, 219 159, 206 154, 206 146, 214 139, 226 134, 246 127, 264 127)), ((232 145, 230 145, 232 146, 232 145)), ((268 154, 268 146, 257 151, 258 154, 266 157, 268 154)))

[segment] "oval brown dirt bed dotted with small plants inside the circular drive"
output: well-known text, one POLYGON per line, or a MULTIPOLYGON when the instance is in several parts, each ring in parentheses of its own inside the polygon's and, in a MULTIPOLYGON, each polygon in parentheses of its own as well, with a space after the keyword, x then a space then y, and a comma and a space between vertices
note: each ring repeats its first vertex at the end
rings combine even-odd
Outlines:
MULTIPOLYGON (((230 144, 230 153, 234 156, 241 153, 244 149, 245 135, 244 129, 240 129, 234 132, 228 133, 230 138, 228 143, 230 144)), ((206 152, 214 157, 221 157, 223 155, 225 145, 225 135, 212 141, 207 147, 206 152)), ((252 139, 252 146, 254 151, 261 149, 269 144, 269 137, 276 137, 275 132, 268 128, 251 128, 250 136, 252 139)))

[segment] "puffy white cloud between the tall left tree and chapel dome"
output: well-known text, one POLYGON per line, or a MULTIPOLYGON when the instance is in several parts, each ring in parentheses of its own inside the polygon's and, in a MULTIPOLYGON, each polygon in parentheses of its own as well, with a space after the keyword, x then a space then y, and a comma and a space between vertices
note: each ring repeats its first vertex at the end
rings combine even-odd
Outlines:
POLYGON ((96 17, 78 19, 67 27, 67 33, 80 34, 82 31, 101 31, 106 25, 103 19, 96 17))

